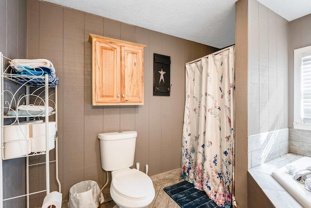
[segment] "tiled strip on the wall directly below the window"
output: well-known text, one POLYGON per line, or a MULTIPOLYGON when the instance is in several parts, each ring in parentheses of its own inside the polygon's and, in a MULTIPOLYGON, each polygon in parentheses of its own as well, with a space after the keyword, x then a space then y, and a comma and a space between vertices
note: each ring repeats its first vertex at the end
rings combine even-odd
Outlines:
POLYGON ((311 131, 290 129, 289 152, 311 156, 311 131))

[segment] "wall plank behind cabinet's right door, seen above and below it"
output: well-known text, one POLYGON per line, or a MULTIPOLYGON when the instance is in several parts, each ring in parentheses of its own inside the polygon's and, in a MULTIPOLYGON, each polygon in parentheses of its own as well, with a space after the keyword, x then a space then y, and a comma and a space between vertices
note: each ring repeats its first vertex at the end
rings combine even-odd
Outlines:
MULTIPOLYGON (((135 42, 136 26, 121 23, 121 40, 135 42)), ((120 107, 120 130, 135 130, 135 105, 120 107)))

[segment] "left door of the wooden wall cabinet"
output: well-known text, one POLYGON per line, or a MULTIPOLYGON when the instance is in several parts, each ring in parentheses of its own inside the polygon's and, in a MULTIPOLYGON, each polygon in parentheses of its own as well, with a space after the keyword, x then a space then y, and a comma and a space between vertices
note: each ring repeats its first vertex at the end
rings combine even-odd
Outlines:
POLYGON ((120 103, 121 47, 113 43, 100 40, 96 40, 94 44, 93 63, 95 64, 93 64, 92 69, 93 105, 120 103))

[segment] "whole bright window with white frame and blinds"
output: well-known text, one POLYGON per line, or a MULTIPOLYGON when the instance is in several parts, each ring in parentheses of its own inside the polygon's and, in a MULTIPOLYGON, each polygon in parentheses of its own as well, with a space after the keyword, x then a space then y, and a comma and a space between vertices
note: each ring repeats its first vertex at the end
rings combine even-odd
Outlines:
POLYGON ((294 50, 294 128, 311 130, 311 46, 294 50))

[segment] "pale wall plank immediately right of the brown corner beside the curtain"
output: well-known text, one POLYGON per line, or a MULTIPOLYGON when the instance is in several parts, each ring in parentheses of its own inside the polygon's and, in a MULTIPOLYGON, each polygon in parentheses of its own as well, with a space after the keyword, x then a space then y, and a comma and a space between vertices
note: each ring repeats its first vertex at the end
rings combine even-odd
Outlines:
MULTIPOLYGON (((259 134, 259 3, 250 0, 248 11, 248 136, 259 134)), ((237 37, 237 35, 236 35, 237 37)))

